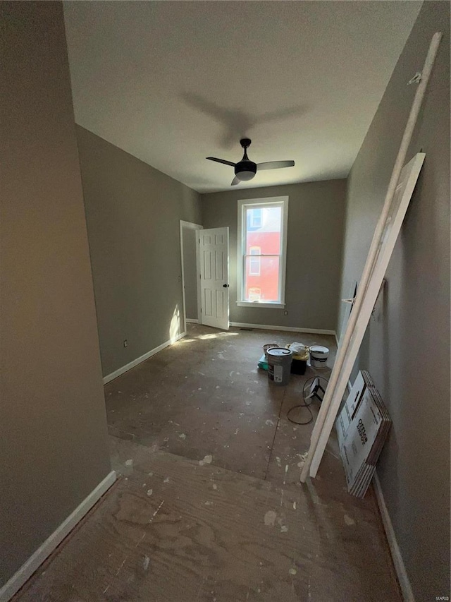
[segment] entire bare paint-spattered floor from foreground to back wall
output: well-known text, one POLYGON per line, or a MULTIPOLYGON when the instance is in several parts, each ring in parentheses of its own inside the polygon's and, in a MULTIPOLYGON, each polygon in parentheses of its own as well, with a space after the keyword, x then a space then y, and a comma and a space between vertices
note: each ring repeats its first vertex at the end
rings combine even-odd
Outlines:
POLYGON ((299 483, 313 423, 287 411, 315 372, 280 387, 256 368, 294 340, 332 366, 332 337, 193 325, 106 385, 121 478, 16 599, 400 602, 373 490, 348 495, 334 438, 299 483))

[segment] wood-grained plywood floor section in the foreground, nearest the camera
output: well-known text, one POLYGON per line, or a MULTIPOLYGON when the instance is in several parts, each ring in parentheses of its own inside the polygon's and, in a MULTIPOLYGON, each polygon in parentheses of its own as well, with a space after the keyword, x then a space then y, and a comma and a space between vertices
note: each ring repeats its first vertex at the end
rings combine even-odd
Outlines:
POLYGON ((371 508, 111 445, 121 481, 20 602, 400 600, 371 508))

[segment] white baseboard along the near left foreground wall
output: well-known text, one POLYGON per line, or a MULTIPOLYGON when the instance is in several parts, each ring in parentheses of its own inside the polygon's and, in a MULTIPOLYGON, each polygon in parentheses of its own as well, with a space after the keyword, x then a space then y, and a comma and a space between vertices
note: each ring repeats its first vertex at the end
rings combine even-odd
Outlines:
POLYGON ((97 485, 95 489, 89 493, 81 504, 75 508, 65 521, 49 536, 42 546, 39 546, 34 554, 28 558, 18 572, 13 574, 13 577, 0 589, 0 602, 8 602, 16 594, 16 592, 30 579, 32 574, 42 565, 49 555, 54 551, 61 541, 72 531, 74 526, 91 510, 92 506, 101 498, 104 493, 116 481, 116 471, 111 471, 106 475, 103 481, 97 485))

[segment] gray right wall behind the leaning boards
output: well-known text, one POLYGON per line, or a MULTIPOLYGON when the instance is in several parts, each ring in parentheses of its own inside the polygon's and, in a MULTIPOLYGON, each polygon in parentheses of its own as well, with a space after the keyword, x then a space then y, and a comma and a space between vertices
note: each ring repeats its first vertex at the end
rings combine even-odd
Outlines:
MULTIPOLYGON (((366 333, 393 418, 378 475, 418 601, 450 594, 450 8, 425 2, 352 167, 342 296, 359 279, 433 32, 445 33, 408 159, 426 161, 366 333)), ((341 320, 338 321, 341 324, 341 320)))

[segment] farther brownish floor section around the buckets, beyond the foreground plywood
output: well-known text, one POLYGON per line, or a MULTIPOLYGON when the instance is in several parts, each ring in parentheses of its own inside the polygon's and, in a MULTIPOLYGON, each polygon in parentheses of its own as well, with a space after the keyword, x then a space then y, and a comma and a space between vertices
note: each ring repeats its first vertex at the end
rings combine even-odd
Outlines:
MULTIPOLYGON (((106 385, 110 434, 191 459, 214 454, 217 466, 266 478, 276 462, 273 448, 288 437, 278 428, 280 412, 299 403, 305 381, 316 371, 292 375, 280 387, 268 382, 257 361, 263 344, 293 340, 326 345, 329 368, 333 365, 330 336, 190 325, 188 337, 106 385)), ((330 369, 318 373, 327 377, 330 369)), ((304 409, 293 417, 305 421, 309 413, 304 409)), ((292 431, 293 452, 308 449, 311 426, 292 431)), ((292 459, 299 462, 296 455, 292 459)))

